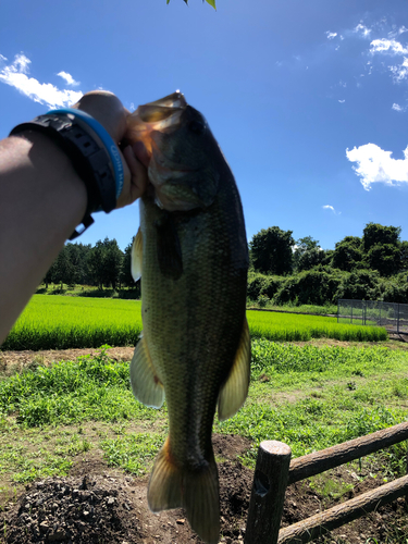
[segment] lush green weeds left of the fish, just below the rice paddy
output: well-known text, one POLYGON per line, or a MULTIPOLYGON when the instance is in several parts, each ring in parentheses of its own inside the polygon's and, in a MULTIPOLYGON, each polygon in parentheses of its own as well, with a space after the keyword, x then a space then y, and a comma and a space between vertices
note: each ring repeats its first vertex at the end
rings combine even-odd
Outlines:
POLYGON ((110 361, 103 349, 97 357, 38 367, 1 381, 0 415, 13 412, 28 428, 159 417, 157 410, 134 400, 128 362, 110 361))

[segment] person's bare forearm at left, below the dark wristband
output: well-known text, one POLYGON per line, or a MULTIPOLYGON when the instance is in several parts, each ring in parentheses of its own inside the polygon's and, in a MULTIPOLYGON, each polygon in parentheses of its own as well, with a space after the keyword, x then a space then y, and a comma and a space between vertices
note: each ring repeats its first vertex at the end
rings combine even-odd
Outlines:
POLYGON ((39 133, 0 141, 0 344, 81 223, 84 182, 39 133))

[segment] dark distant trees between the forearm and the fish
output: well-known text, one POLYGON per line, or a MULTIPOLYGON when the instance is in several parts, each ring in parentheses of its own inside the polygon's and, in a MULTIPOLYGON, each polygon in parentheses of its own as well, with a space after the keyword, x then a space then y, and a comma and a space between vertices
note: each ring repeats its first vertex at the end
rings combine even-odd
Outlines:
POLYGON ((132 242, 124 251, 118 242, 109 239, 90 244, 66 244, 44 282, 46 288, 50 283, 67 285, 94 285, 99 288, 135 287, 131 274, 132 242))

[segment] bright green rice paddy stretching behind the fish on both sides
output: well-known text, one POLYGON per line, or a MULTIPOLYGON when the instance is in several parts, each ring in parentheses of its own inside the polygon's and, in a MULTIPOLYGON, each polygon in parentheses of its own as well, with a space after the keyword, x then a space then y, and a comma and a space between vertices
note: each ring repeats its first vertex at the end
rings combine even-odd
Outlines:
MULTIPOLYGON (((133 346, 141 332, 140 300, 34 295, 3 350, 133 346)), ((217 306, 214 306, 214 312, 217 306)), ((336 318, 248 310, 254 338, 298 342, 311 338, 386 341, 385 329, 337 323, 336 318)))

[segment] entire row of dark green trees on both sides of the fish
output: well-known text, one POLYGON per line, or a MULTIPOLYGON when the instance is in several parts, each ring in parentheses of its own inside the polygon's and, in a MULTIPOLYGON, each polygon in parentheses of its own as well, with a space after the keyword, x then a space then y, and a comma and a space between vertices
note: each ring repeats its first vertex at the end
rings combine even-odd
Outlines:
MULTIPOLYGON (((338 298, 408 304, 408 242, 400 227, 368 223, 362 236, 346 236, 334 249, 306 236, 295 240, 279 226, 261 230, 249 243, 248 297, 273 304, 325 305, 338 298)), ((124 251, 115 239, 95 246, 66 244, 44 283, 135 287, 133 239, 124 251)), ((138 295, 137 295, 138 296, 138 295)))

